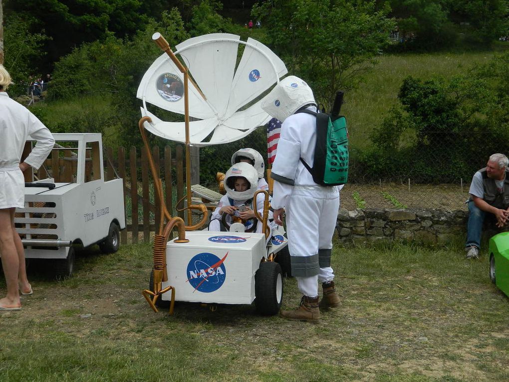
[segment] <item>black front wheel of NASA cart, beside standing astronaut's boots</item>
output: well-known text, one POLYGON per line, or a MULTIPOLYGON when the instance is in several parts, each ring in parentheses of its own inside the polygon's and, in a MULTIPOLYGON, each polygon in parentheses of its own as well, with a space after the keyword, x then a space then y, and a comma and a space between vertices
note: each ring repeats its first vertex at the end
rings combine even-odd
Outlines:
POLYGON ((274 261, 260 264, 254 274, 254 305, 258 313, 272 316, 279 312, 283 299, 281 266, 274 261))

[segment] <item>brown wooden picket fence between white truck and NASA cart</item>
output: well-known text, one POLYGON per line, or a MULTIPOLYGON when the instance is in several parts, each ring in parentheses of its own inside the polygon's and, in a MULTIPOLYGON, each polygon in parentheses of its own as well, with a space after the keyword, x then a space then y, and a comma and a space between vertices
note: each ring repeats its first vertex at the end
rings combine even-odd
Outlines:
MULTIPOLYGON (((118 154, 114 156, 111 147, 105 149, 104 170, 105 180, 115 179, 117 175, 123 179, 127 229, 121 232, 121 243, 136 243, 139 240, 148 242, 151 233, 159 231, 161 211, 147 151, 145 147, 138 150, 134 146, 129 148, 129 151, 124 147, 119 147, 116 151, 118 154)), ((167 146, 163 152, 160 151, 159 147, 154 146, 152 156, 156 172, 163 182, 166 208, 172 213, 174 207, 180 209, 183 205, 183 203, 179 206, 173 205, 174 195, 177 201, 184 197, 183 148, 177 146, 173 153, 171 147, 167 146), (175 154, 175 157, 172 157, 172 154, 175 154), (175 176, 172 169, 175 169, 175 176)), ((183 211, 177 215, 185 219, 183 211)))

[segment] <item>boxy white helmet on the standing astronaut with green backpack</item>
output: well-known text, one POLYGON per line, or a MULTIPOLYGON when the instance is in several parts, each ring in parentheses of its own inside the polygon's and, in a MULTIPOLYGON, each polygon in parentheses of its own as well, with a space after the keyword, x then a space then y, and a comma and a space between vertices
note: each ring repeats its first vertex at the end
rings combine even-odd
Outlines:
POLYGON ((313 90, 294 75, 282 79, 262 100, 262 109, 284 122, 302 106, 317 104, 313 90))

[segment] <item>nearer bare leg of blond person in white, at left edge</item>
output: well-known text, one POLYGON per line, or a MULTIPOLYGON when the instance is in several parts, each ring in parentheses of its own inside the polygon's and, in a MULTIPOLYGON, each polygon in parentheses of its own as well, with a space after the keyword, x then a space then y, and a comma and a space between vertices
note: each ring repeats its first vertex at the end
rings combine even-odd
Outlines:
POLYGON ((0 209, 0 254, 7 284, 7 296, 0 299, 0 305, 8 308, 19 307, 21 302, 18 291, 19 257, 14 243, 11 210, 15 208, 0 209))

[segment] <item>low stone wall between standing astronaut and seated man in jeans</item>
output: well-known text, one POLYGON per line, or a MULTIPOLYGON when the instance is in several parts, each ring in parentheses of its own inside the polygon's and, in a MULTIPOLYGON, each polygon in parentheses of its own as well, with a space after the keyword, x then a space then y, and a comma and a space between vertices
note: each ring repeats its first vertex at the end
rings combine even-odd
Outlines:
POLYGON ((336 229, 343 243, 414 241, 443 245, 464 237, 468 211, 417 209, 341 209, 336 229))

